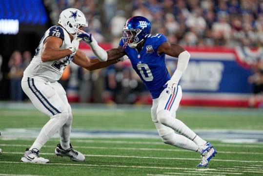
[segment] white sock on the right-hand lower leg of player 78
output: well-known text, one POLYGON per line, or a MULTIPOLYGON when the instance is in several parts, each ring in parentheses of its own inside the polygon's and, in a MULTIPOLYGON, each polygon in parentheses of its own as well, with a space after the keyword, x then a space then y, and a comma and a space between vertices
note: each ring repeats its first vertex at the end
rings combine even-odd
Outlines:
POLYGON ((59 130, 59 134, 61 136, 61 147, 64 150, 67 150, 70 148, 69 143, 70 143, 72 118, 73 118, 72 113, 69 113, 67 122, 59 130))

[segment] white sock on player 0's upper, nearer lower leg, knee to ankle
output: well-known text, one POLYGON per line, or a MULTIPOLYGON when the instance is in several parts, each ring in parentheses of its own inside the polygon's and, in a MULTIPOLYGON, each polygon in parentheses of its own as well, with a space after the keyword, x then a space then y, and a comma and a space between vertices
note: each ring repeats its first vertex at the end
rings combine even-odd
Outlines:
POLYGON ((196 137, 195 132, 189 129, 181 120, 173 118, 168 110, 160 110, 157 113, 157 119, 163 125, 170 127, 190 140, 193 140, 196 137))

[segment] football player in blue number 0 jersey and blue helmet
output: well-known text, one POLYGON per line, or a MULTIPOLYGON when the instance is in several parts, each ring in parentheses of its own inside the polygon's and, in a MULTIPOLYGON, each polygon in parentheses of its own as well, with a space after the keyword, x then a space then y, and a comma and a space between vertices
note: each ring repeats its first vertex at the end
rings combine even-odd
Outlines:
MULTIPOLYGON (((207 166, 217 153, 215 148, 175 118, 182 98, 179 80, 188 65, 190 54, 181 46, 170 44, 164 35, 152 35, 151 23, 141 16, 128 19, 122 32, 120 46, 107 51, 108 59, 128 56, 133 69, 152 95, 152 121, 162 141, 201 153, 202 161, 197 166, 207 166), (177 69, 172 76, 165 65, 165 54, 178 58, 177 69)), ((82 33, 78 37, 92 47, 94 41, 91 35, 82 33)))

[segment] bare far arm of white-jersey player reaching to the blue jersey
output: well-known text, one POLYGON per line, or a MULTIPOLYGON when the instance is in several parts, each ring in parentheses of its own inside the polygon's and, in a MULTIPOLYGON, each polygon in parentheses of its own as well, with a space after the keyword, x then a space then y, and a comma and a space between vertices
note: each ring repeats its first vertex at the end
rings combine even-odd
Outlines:
POLYGON ((104 68, 106 66, 110 66, 113 64, 118 63, 116 59, 110 59, 106 62, 101 62, 99 59, 89 59, 85 53, 78 50, 74 56, 74 59, 72 60, 73 63, 77 64, 78 66, 81 66, 83 68, 86 68, 89 71, 104 68))

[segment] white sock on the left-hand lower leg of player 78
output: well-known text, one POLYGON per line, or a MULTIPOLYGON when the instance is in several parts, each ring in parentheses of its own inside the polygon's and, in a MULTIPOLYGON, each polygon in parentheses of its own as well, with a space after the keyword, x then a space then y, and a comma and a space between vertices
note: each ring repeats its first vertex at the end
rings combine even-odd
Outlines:
POLYGON ((67 112, 62 112, 51 116, 50 120, 42 128, 37 139, 29 150, 32 150, 34 148, 40 150, 41 147, 49 140, 49 138, 53 136, 66 123, 67 119, 67 112))

